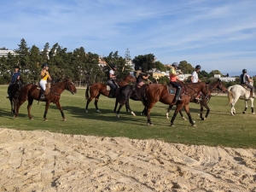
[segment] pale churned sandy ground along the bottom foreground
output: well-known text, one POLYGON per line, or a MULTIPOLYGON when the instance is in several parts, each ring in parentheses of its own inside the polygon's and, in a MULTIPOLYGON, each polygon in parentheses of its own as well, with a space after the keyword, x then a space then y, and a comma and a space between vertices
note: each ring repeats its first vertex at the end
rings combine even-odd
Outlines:
POLYGON ((0 191, 256 191, 256 149, 0 129, 0 191))

